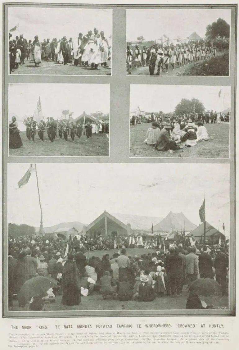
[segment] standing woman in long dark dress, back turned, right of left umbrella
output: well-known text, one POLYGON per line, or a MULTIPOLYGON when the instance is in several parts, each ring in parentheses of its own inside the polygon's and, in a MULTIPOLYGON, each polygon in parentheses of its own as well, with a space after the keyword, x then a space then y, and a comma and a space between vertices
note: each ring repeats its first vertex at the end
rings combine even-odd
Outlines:
POLYGON ((67 261, 63 266, 62 271, 62 304, 63 305, 79 305, 80 287, 79 287, 79 271, 73 254, 68 253, 67 261))

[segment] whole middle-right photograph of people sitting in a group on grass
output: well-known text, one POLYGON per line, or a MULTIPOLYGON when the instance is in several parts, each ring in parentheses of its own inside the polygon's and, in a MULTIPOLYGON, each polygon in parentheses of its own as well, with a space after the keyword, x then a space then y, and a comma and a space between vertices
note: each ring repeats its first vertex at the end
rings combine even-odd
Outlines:
POLYGON ((131 85, 130 158, 230 158, 230 86, 131 85))

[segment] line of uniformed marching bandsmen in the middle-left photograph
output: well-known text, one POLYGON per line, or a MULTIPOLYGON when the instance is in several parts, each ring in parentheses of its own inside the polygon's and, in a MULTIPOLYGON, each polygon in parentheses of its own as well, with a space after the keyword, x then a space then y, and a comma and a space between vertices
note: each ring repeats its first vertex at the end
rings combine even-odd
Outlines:
POLYGON ((75 136, 79 139, 82 135, 86 135, 87 139, 92 137, 94 133, 109 133, 108 123, 99 123, 99 128, 96 124, 88 121, 87 123, 75 123, 71 120, 54 120, 52 117, 48 117, 45 122, 43 119, 37 123, 33 117, 24 119, 23 124, 26 126, 26 136, 29 141, 35 142, 36 132, 41 141, 44 141, 44 132, 47 131, 47 136, 50 142, 54 142, 57 138, 57 131, 60 139, 68 140, 70 136, 71 141, 75 141, 75 136), (98 132, 96 132, 98 131, 98 132))

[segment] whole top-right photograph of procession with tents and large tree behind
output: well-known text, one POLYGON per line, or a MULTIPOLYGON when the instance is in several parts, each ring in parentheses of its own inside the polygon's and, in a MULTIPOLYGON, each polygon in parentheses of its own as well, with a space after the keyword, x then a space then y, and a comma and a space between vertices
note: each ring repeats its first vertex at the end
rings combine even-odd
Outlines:
POLYGON ((231 9, 126 10, 126 75, 229 76, 231 9))

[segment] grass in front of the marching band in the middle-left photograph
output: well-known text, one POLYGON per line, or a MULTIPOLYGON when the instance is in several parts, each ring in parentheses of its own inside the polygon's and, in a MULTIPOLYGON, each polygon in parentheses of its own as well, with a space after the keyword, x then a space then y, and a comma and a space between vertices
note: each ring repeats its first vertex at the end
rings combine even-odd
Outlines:
POLYGON ((80 139, 75 137, 75 142, 68 137, 66 142, 64 138, 57 139, 50 143, 47 133, 44 133, 42 142, 36 133, 36 141, 30 142, 26 137, 26 132, 20 132, 23 146, 17 149, 9 149, 9 156, 109 156, 109 137, 108 134, 93 135, 91 139, 82 136, 80 139))

